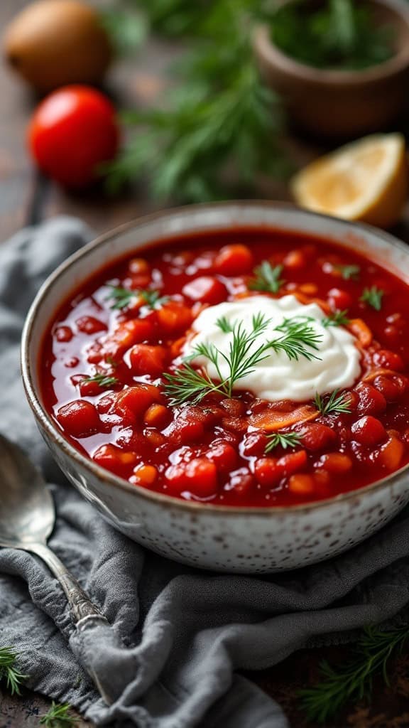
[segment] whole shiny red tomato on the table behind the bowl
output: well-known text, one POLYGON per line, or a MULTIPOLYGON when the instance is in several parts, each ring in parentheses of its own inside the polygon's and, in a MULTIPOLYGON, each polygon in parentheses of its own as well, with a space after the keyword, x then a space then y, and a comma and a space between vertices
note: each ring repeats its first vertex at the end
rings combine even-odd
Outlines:
POLYGON ((111 102, 88 86, 65 86, 47 96, 28 127, 28 145, 39 168, 74 189, 98 177, 98 167, 115 157, 119 143, 111 102))

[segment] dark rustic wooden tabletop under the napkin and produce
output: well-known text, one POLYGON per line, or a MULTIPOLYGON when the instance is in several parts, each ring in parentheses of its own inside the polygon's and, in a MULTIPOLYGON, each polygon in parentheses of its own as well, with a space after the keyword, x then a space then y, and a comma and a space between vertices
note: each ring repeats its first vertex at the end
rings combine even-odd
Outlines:
MULTIPOLYGON (((0 0, 0 30, 12 15, 27 4, 26 0, 0 0)), ((120 63, 108 79, 107 89, 121 105, 143 104, 160 93, 164 70, 177 49, 151 42, 132 61, 120 63)), ((47 183, 33 172, 25 151, 25 127, 36 103, 33 95, 0 63, 0 241, 6 240, 25 223, 59 213, 78 215, 102 232, 119 223, 154 209, 141 194, 130 191, 116 199, 101 200, 101 193, 71 196, 47 183), (101 204, 103 202, 103 204, 101 204)), ((300 138, 288 141, 298 162, 316 156, 322 149, 300 138)), ((287 191, 271 186, 269 197, 287 198, 287 191)), ((409 241, 409 213, 396 229, 396 234, 409 241)), ((314 684, 322 659, 333 663, 348 657, 349 648, 303 650, 280 665, 261 673, 247 673, 271 697, 285 708, 293 728, 303 728, 306 721, 298 709, 297 691, 314 684)), ((394 661, 391 687, 381 679, 370 705, 349 705, 327 728, 409 728, 409 655, 394 661)), ((9 697, 0 687, 0 728, 34 728, 49 708, 49 700, 28 690, 21 697, 9 697)), ((90 723, 79 719, 79 728, 90 723)), ((210 727, 209 727, 210 728, 210 727)), ((249 726, 249 728, 251 728, 249 726)))

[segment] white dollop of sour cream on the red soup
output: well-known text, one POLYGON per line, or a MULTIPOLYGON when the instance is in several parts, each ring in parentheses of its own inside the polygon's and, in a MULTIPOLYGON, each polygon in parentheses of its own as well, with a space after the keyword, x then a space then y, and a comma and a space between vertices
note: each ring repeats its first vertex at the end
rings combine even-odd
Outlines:
MULTIPOLYGON (((258 362, 251 373, 237 380, 234 389, 247 389, 256 397, 271 402, 311 400, 318 392, 324 395, 334 389, 352 387, 360 376, 360 351, 356 339, 342 326, 324 326, 325 313, 315 304, 301 304, 295 296, 270 298, 269 296, 249 296, 237 301, 225 301, 217 306, 209 306, 196 318, 194 336, 186 342, 183 356, 192 357, 199 344, 213 344, 221 354, 229 358, 229 347, 233 339, 231 331, 222 331, 218 326, 221 317, 231 326, 242 322, 245 331, 253 331, 253 317, 263 314, 269 325, 252 344, 254 351, 261 344, 278 339, 282 332, 274 331, 285 319, 309 317, 309 325, 317 334, 317 349, 306 347, 317 358, 290 360, 284 351, 267 349, 263 361, 258 362)), ((196 356, 191 359, 207 371, 211 379, 220 381, 215 365, 207 357, 196 356)), ((218 365, 223 378, 229 376, 229 365, 218 356, 218 365)))

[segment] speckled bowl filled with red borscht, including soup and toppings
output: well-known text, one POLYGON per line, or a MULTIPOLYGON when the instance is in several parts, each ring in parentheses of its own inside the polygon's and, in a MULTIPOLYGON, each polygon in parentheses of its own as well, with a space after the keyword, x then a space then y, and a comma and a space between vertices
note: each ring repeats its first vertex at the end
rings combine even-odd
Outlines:
POLYGON ((409 500, 409 250, 275 202, 167 210, 68 258, 23 379, 117 529, 219 571, 294 569, 409 500))

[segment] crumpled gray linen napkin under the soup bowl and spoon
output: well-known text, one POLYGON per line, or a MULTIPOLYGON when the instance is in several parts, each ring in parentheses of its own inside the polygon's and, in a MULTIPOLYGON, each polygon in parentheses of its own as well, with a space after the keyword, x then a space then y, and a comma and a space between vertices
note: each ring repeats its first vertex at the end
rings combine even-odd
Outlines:
MULTIPOLYGON (((0 246, 0 430, 42 467, 57 504, 50 545, 114 625, 73 630, 63 592, 32 555, 0 550, 0 645, 20 653, 28 686, 98 725, 286 728, 279 706, 240 668, 389 620, 409 601, 409 514, 346 555, 265 577, 210 574, 145 551, 64 482, 25 403, 19 339, 42 280, 90 232, 70 218, 0 246), (123 647, 117 646, 122 641, 123 647), (116 695, 106 706, 81 665, 116 695)), ((1 485, 0 485, 1 487, 1 485)))

